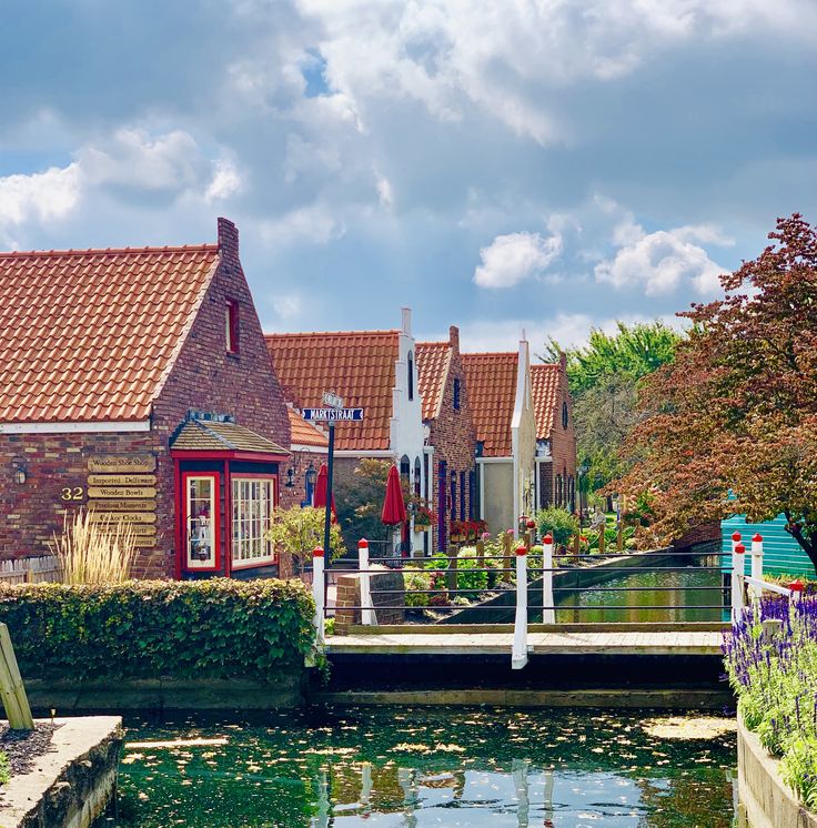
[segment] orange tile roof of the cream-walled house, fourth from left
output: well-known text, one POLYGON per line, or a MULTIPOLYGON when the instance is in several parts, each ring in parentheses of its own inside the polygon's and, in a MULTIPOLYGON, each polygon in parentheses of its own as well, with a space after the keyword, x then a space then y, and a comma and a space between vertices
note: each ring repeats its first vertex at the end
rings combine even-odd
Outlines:
POLYGON ((517 353, 463 354, 468 407, 484 457, 510 457, 517 353))

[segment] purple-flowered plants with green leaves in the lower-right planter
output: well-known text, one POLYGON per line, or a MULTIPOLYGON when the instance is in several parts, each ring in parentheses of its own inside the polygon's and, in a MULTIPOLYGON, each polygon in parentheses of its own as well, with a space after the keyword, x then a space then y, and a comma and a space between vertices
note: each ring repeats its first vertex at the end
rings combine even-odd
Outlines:
POLYGON ((746 726, 780 759, 784 781, 817 810, 817 596, 765 598, 724 640, 746 726), (764 634, 763 622, 779 630, 764 634))

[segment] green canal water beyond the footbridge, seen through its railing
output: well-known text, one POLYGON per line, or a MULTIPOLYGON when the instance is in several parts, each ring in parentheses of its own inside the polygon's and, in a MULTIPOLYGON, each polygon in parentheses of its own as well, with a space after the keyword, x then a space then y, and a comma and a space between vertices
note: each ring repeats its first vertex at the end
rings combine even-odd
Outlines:
POLYGON ((556 589, 555 600, 559 607, 556 622, 728 620, 729 613, 723 608, 720 580, 719 572, 688 567, 683 572, 623 574, 582 592, 556 589), (624 590, 618 592, 622 588, 624 590))

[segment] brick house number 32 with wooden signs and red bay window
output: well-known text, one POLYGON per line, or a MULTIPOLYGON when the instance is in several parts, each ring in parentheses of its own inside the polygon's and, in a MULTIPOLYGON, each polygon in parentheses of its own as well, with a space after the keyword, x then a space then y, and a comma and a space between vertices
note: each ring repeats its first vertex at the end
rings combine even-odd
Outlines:
POLYGON ((0 558, 63 515, 134 527, 134 574, 270 572, 290 422, 239 261, 218 244, 0 254, 0 558))

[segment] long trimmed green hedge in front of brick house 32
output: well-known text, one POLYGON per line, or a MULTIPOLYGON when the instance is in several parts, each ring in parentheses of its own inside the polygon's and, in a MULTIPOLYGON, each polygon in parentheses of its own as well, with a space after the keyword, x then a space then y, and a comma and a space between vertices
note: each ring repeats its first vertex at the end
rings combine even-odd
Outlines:
POLYGON ((296 580, 0 585, 24 678, 274 679, 312 650, 296 580))

